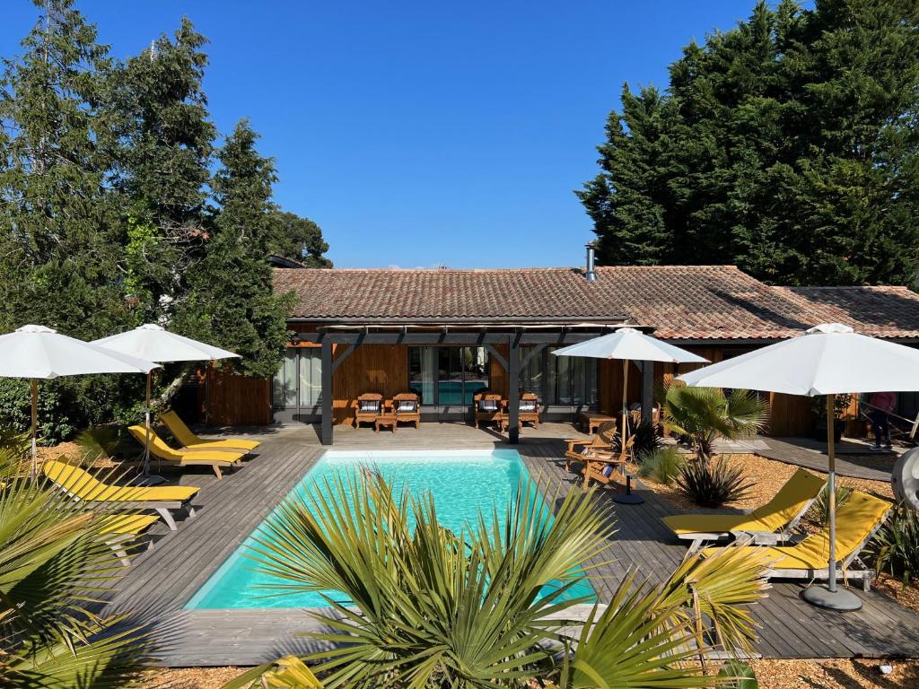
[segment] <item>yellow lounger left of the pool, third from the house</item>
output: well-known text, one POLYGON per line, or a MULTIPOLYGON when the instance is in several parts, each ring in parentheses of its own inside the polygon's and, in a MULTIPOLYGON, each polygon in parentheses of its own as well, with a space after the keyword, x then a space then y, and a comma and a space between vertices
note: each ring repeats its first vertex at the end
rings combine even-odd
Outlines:
POLYGON ((153 510, 163 517, 171 531, 176 521, 170 510, 186 510, 195 516, 191 499, 200 489, 191 486, 114 486, 96 479, 88 471, 51 459, 41 470, 62 491, 86 507, 108 506, 119 510, 153 510))

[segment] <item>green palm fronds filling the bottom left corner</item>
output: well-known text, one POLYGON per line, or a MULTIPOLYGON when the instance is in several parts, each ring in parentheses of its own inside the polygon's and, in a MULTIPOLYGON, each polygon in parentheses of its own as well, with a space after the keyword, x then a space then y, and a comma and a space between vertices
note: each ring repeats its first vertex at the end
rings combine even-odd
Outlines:
POLYGON ((0 686, 128 686, 145 664, 142 631, 93 612, 122 569, 104 519, 15 470, 0 476, 0 686))

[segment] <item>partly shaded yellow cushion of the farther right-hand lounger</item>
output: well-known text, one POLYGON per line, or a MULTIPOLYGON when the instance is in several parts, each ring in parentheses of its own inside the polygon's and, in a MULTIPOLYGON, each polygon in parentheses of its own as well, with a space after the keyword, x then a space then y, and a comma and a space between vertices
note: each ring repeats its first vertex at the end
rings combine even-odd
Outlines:
POLYGON ((825 479, 798 469, 768 503, 751 514, 675 514, 664 517, 664 524, 677 535, 717 534, 728 531, 772 533, 789 524, 804 506, 823 490, 825 479))

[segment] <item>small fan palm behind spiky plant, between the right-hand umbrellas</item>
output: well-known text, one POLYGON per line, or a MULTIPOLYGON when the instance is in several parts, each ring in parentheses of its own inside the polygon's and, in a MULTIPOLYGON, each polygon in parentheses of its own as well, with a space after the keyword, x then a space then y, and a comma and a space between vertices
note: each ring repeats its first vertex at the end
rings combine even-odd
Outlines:
POLYGON ((664 388, 664 428, 679 435, 707 461, 719 437, 735 440, 766 427, 769 406, 750 390, 689 388, 670 383, 664 388))

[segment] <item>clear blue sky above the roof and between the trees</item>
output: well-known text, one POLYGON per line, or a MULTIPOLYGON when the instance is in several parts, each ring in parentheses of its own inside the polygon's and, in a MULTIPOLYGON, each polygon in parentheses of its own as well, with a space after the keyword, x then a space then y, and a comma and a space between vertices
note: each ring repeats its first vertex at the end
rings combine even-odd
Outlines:
MULTIPOLYGON (((666 85, 688 40, 753 5, 77 0, 117 56, 194 21, 217 126, 251 119, 278 203, 342 267, 580 265, 594 235, 573 189, 622 83, 666 85)), ((35 17, 5 0, 0 55, 35 17)))

